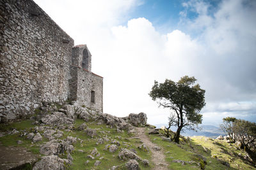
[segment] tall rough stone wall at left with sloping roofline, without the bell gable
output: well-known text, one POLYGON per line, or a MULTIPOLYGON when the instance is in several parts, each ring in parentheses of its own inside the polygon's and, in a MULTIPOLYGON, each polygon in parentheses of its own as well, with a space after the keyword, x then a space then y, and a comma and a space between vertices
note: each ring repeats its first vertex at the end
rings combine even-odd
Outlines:
POLYGON ((31 114, 42 101, 67 99, 74 40, 33 1, 2 2, 0 113, 8 121, 31 114))

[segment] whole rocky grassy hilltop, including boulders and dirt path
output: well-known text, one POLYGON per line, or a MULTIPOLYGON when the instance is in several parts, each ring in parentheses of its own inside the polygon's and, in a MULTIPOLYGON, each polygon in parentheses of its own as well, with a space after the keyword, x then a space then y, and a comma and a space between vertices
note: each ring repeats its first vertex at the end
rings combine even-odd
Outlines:
POLYGON ((235 143, 195 136, 177 144, 148 125, 145 113, 118 118, 76 104, 48 104, 1 124, 0 142, 1 169, 255 168, 235 143))

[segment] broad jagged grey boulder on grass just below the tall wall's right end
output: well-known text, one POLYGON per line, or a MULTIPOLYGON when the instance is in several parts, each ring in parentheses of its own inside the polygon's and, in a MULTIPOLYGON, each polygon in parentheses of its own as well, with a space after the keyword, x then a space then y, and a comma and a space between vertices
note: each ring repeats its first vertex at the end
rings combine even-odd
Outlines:
POLYGON ((74 122, 72 118, 68 118, 64 113, 58 111, 52 113, 52 115, 45 115, 40 121, 45 125, 52 126, 70 125, 74 122))

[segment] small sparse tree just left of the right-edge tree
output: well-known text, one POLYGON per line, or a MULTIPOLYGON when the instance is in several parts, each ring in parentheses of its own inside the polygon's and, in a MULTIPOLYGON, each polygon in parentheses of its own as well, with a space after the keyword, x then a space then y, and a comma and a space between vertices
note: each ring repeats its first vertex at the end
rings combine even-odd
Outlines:
POLYGON ((220 125, 220 128, 227 136, 231 138, 231 140, 234 139, 234 132, 233 132, 233 125, 234 122, 236 122, 236 118, 234 117, 226 117, 223 118, 223 124, 220 125))

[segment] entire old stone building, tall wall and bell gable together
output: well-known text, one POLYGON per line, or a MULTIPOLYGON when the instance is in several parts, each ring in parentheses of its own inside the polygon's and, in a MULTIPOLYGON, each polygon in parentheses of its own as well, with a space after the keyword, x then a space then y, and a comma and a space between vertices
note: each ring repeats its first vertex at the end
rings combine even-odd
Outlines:
POLYGON ((67 99, 103 110, 103 78, 87 46, 74 46, 33 1, 0 0, 0 35, 0 122, 67 99))

